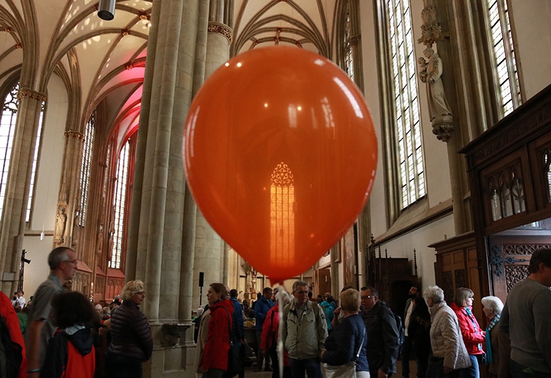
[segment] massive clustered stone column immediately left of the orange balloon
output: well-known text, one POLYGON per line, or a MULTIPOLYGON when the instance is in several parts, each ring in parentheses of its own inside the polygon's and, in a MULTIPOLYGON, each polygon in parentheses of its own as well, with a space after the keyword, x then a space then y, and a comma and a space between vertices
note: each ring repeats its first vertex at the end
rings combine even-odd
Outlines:
MULTIPOLYGON (((189 285, 193 254, 185 220, 186 185, 182 145, 185 115, 196 82, 196 44, 202 0, 158 0, 152 7, 134 191, 129 225, 127 279, 144 280, 143 312, 152 324, 154 353, 146 377, 192 377, 193 328, 189 320, 189 285), (181 270, 181 271, 180 271, 181 270), (180 302, 181 301, 181 302, 180 302), (191 337, 190 337, 191 334, 191 337)), ((191 233, 192 235, 192 233, 191 233)))

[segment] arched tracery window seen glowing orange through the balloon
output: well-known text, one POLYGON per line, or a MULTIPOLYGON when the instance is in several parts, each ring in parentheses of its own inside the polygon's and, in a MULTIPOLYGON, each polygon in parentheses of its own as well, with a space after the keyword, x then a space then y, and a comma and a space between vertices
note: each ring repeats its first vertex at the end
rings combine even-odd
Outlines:
POLYGON ((295 179, 283 162, 271 175, 270 243, 275 263, 286 266, 295 258, 295 179))

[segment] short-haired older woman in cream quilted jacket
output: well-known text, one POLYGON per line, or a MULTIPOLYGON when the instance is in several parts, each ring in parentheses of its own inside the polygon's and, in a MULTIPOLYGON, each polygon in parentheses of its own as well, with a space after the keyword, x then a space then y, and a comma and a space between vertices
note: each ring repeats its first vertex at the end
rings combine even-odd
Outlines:
POLYGON ((470 366, 457 316, 444 302, 444 291, 429 286, 423 293, 433 315, 430 326, 430 346, 433 354, 428 357, 426 376, 431 378, 457 377, 461 370, 470 366))

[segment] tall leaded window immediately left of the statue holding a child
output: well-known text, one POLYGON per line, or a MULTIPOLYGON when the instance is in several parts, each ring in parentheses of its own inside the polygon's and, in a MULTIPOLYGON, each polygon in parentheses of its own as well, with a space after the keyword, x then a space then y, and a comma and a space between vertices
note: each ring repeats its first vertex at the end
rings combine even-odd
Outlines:
POLYGON ((426 194, 409 0, 388 0, 395 135, 404 209, 426 194))

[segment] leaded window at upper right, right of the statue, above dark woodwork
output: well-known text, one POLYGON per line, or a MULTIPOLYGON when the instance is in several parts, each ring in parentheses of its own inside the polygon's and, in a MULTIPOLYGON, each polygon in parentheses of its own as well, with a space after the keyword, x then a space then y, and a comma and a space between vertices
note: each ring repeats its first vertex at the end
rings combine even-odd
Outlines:
POLYGON ((517 60, 512 41, 507 0, 488 0, 490 30, 497 64, 503 116, 521 104, 517 60))

